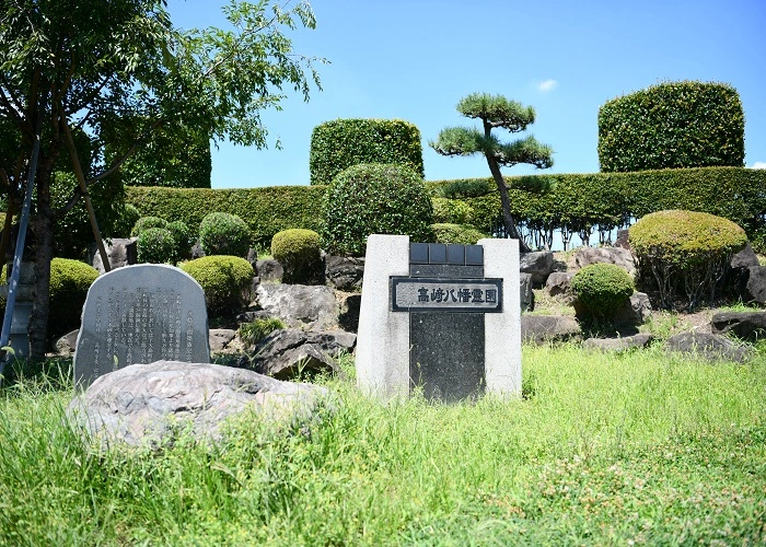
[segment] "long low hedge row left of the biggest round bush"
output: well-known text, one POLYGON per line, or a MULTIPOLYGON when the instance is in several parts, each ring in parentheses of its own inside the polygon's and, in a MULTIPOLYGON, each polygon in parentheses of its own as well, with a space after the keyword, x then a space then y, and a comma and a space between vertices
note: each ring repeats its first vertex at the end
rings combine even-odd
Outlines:
POLYGON ((182 220, 193 230, 209 212, 237 214, 247 223, 253 244, 266 248, 277 232, 290 228, 318 231, 322 228, 324 186, 267 188, 160 188, 127 187, 127 201, 142 217, 182 220))

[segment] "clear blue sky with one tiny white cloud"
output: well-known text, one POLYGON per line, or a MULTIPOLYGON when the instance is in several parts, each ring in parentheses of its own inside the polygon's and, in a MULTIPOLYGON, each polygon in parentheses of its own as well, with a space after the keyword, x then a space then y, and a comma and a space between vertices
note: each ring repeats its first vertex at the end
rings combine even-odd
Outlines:
MULTIPOLYGON (((222 0, 169 0, 181 27, 224 26, 222 0)), ((268 150, 219 143, 212 187, 309 184, 312 129, 337 118, 398 118, 422 135, 426 179, 489 176, 479 158, 442 158, 440 129, 473 92, 531 105, 553 147, 549 173, 599 171, 599 107, 663 81, 724 82, 745 112, 745 163, 766 167, 766 0, 313 0, 316 30, 288 31, 323 91, 264 113, 268 150), (279 138, 281 150, 274 148, 279 138)), ((498 131, 503 137, 502 131, 498 131)), ((512 138, 509 133, 506 136, 512 138)), ((507 175, 533 173, 518 165, 507 175)))

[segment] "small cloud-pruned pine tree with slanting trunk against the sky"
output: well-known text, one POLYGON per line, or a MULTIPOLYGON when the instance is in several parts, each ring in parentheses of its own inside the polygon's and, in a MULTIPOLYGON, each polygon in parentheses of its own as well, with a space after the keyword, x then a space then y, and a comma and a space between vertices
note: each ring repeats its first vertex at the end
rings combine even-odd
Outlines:
POLYGON ((537 168, 550 167, 553 149, 538 142, 531 135, 511 142, 502 142, 491 131, 496 128, 512 133, 525 131, 535 120, 534 108, 502 95, 473 93, 457 103, 457 112, 467 118, 480 119, 481 127, 448 127, 429 144, 442 155, 485 156, 500 193, 506 233, 520 240, 522 249, 527 249, 511 216, 508 185, 500 167, 512 167, 519 163, 527 163, 537 168))

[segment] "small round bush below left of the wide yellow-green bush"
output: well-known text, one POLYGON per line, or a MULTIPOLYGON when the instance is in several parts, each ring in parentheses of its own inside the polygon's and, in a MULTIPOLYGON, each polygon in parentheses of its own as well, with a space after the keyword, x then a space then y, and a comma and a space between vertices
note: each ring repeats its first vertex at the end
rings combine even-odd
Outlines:
POLYGON ((570 281, 574 310, 583 318, 613 317, 634 292, 632 278, 614 264, 585 266, 570 281))

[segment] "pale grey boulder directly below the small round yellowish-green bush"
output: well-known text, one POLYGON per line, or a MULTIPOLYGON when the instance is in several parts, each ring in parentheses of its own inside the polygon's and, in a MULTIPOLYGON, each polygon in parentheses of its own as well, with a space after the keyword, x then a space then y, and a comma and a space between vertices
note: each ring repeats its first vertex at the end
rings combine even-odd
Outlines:
POLYGON ((262 283, 257 305, 290 327, 322 330, 338 324, 335 291, 325 286, 262 283))

